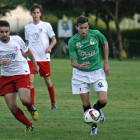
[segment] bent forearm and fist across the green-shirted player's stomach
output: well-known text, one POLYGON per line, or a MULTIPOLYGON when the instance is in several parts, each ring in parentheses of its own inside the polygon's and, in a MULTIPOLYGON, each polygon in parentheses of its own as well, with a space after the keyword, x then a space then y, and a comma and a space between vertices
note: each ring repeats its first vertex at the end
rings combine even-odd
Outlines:
POLYGON ((74 68, 78 68, 78 69, 88 69, 90 67, 89 62, 84 62, 82 64, 78 64, 76 62, 76 59, 71 59, 71 65, 74 68))

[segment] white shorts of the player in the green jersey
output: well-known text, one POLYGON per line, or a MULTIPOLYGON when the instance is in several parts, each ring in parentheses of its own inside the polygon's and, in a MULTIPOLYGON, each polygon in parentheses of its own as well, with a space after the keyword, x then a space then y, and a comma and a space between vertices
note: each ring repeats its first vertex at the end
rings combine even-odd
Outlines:
POLYGON ((73 68, 72 93, 82 94, 90 92, 92 84, 95 92, 108 90, 108 84, 104 70, 101 68, 96 71, 84 72, 73 68))

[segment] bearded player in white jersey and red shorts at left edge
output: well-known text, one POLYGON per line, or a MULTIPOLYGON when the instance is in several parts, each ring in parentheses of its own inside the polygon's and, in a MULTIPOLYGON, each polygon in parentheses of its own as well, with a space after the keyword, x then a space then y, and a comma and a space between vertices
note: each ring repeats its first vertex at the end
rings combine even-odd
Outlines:
POLYGON ((35 73, 39 67, 31 50, 19 36, 9 36, 10 25, 5 20, 0 20, 0 96, 4 99, 13 116, 26 125, 26 131, 32 131, 33 125, 26 118, 23 111, 17 106, 16 94, 25 105, 34 120, 38 119, 38 112, 30 99, 30 69, 22 52, 31 59, 35 73))

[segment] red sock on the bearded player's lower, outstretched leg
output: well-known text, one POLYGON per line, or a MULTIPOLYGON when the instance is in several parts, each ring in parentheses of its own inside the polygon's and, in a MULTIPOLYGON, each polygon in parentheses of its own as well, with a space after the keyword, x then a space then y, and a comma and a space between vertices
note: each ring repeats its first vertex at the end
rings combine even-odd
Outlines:
POLYGON ((18 108, 17 112, 13 115, 18 121, 20 121, 24 125, 32 126, 32 123, 26 118, 26 116, 24 115, 23 111, 20 108, 18 108))

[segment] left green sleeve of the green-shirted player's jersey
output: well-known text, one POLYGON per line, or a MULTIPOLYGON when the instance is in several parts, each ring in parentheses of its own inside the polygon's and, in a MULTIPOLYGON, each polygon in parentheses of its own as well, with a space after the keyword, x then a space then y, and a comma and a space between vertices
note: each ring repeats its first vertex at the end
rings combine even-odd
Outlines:
POLYGON ((77 59, 77 53, 74 47, 74 42, 70 39, 68 42, 70 59, 77 59))

